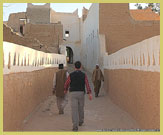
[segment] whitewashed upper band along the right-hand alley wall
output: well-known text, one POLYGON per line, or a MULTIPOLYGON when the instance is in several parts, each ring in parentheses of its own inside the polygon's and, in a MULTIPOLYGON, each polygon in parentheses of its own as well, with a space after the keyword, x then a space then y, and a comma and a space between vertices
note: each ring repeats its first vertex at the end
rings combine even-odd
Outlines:
POLYGON ((104 68, 160 72, 160 36, 143 40, 111 55, 105 55, 104 68))

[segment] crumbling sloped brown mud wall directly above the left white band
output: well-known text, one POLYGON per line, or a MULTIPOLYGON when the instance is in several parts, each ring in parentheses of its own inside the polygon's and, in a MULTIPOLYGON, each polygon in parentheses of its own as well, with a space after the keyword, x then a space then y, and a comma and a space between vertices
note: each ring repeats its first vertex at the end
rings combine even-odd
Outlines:
POLYGON ((3 24, 3 41, 27 46, 44 52, 46 51, 45 47, 40 49, 41 43, 37 39, 23 37, 19 33, 13 32, 13 30, 5 24, 3 24))

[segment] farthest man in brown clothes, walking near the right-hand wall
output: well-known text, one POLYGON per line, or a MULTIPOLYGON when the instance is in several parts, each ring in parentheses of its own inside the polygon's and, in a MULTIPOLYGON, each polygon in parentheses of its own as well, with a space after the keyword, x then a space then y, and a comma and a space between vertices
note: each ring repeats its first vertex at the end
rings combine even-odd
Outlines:
POLYGON ((101 69, 99 68, 99 65, 96 64, 96 69, 94 69, 93 75, 92 75, 92 82, 94 85, 95 97, 98 97, 100 87, 101 87, 101 81, 104 81, 104 76, 102 74, 101 69))

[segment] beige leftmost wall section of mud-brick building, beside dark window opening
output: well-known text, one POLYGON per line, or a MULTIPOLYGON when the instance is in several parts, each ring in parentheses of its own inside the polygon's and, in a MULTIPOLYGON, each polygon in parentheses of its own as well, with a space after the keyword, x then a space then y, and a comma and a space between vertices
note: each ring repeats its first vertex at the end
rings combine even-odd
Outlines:
POLYGON ((26 19, 26 13, 12 13, 9 16, 7 25, 10 26, 15 32, 20 32, 20 25, 22 21, 20 19, 26 19))

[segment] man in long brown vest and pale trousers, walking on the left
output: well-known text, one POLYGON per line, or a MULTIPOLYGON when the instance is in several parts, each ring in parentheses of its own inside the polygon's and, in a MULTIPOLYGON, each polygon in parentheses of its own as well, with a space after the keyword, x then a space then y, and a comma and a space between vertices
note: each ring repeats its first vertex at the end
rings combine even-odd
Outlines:
POLYGON ((53 79, 53 94, 57 97, 57 106, 59 114, 64 114, 64 108, 67 104, 66 95, 64 93, 64 84, 69 76, 67 70, 64 69, 63 64, 59 64, 59 70, 54 73, 53 79))

